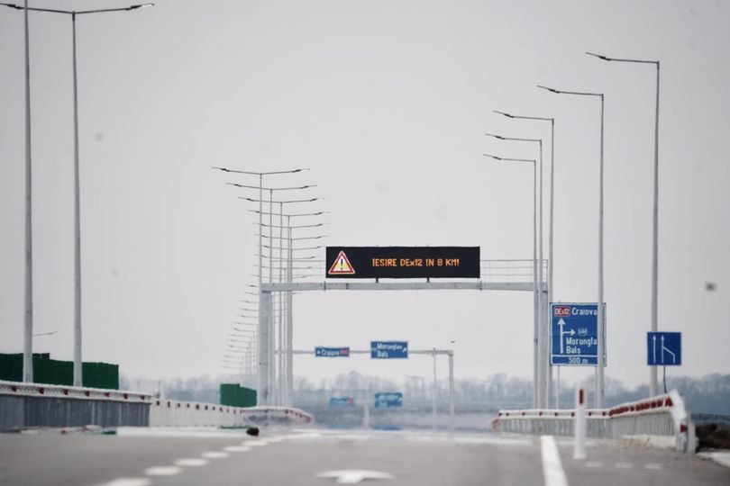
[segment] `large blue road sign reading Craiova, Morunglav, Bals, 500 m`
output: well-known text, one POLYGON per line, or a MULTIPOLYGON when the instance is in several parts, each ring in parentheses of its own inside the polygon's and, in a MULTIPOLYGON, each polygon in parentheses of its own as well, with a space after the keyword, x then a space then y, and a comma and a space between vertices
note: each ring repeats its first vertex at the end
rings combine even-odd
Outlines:
MULTIPOLYGON (((598 366, 598 305, 551 303, 551 365, 598 366)), ((603 363, 606 365, 606 304, 603 304, 603 363)))

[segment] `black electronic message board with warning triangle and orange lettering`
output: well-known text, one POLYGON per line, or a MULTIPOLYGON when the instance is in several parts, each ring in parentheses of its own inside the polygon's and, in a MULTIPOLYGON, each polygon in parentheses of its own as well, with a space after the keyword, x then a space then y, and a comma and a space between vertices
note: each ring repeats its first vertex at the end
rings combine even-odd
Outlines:
POLYGON ((327 247, 326 278, 479 278, 479 247, 327 247))

